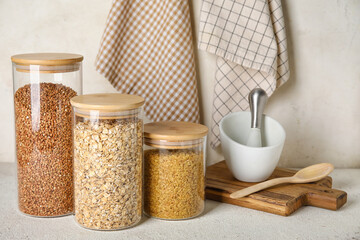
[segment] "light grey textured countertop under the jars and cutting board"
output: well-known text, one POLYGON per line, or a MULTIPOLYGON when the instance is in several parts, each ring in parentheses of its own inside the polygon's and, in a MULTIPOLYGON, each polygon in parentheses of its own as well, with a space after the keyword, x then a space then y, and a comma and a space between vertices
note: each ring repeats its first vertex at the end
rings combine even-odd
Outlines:
POLYGON ((73 216, 35 218, 17 210, 15 164, 0 163, 0 239, 359 239, 360 169, 336 169, 333 187, 348 193, 338 211, 303 207, 289 217, 206 201, 203 215, 186 221, 144 217, 121 231, 91 231, 73 216))

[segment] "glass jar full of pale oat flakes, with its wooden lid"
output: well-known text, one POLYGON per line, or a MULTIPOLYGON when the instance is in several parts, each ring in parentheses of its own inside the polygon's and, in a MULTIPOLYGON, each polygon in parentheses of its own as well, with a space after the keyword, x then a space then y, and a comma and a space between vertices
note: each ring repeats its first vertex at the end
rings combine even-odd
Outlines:
POLYGON ((142 217, 144 99, 90 94, 74 109, 75 219, 83 227, 116 230, 142 217))

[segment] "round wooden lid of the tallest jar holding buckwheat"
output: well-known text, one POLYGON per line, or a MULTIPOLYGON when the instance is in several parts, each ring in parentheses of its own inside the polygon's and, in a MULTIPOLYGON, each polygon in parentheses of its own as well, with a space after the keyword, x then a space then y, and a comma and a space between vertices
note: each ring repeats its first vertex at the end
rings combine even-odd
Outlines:
POLYGON ((11 61, 16 64, 47 66, 71 65, 83 59, 83 56, 72 53, 26 53, 11 57, 11 61))

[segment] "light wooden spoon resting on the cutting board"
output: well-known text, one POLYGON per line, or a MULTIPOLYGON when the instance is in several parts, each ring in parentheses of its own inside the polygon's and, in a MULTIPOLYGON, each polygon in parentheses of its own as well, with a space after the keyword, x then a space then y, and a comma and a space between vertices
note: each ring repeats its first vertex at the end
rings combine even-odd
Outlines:
POLYGON ((254 192, 269 188, 282 183, 308 183, 319 181, 334 170, 330 163, 319 163, 299 170, 292 177, 274 178, 251 187, 241 189, 230 194, 231 198, 242 198, 254 192))

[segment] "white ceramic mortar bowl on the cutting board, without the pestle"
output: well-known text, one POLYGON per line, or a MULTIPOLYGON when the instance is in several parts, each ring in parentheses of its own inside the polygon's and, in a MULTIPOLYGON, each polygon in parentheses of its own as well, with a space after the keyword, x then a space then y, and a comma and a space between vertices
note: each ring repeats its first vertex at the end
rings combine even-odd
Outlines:
POLYGON ((246 146, 250 132, 250 112, 235 112, 220 122, 220 138, 225 161, 233 176, 244 182, 260 182, 270 177, 279 162, 285 130, 276 120, 263 115, 263 147, 246 146))

